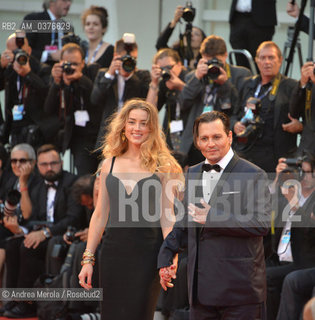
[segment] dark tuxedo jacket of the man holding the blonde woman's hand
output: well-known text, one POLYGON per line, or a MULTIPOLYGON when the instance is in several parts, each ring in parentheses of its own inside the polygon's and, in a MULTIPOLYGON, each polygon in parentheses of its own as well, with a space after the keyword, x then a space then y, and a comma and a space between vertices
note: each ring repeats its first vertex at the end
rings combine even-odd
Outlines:
MULTIPOLYGON (((202 198, 202 163, 189 168, 184 207, 202 198), (194 187, 195 186, 195 187, 194 187), (193 188, 193 189, 191 189, 193 188)), ((230 306, 265 299, 263 236, 268 232, 270 197, 266 174, 234 155, 210 199, 205 226, 177 222, 165 239, 158 268, 188 246, 188 290, 203 305, 230 306)))

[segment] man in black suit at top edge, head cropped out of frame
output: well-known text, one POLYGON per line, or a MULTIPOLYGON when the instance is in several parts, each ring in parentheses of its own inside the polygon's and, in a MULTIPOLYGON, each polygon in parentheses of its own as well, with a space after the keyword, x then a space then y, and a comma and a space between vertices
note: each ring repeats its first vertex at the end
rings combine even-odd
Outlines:
MULTIPOLYGON (((277 25, 276 0, 233 0, 230 9, 230 43, 233 49, 246 49, 252 57, 263 41, 272 40, 277 25)), ((247 60, 237 56, 238 65, 247 60)))

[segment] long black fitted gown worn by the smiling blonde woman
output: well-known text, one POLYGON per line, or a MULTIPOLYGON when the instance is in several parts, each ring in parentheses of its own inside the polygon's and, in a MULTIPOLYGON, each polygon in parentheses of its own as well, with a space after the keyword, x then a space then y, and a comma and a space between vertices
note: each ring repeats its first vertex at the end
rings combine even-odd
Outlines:
POLYGON ((161 290, 157 270, 163 241, 157 218, 161 182, 153 174, 138 181, 128 194, 110 172, 106 186, 110 213, 100 251, 101 318, 152 320, 161 290))

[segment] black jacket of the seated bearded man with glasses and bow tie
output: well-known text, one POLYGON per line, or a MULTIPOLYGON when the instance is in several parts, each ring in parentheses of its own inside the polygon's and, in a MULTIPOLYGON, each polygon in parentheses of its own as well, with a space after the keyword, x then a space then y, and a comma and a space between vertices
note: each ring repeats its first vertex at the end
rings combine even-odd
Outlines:
MULTIPOLYGON (((84 209, 72 197, 71 186, 76 176, 63 171, 58 180, 58 187, 54 202, 54 223, 50 228, 53 236, 62 235, 68 226, 79 227, 84 218, 84 209)), ((43 221, 47 219, 47 188, 44 179, 30 193, 32 201, 32 215, 30 220, 43 221)))

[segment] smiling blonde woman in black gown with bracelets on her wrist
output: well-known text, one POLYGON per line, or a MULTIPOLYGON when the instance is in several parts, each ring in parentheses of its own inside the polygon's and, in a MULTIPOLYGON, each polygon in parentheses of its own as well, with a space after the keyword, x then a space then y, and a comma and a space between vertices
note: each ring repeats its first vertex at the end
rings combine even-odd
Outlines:
POLYGON ((79 282, 91 288, 94 252, 106 228, 98 261, 102 320, 152 320, 161 288, 157 255, 174 223, 175 178, 182 172, 156 107, 129 100, 109 125, 103 155, 79 282))

